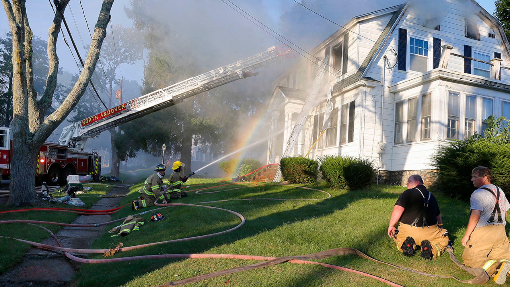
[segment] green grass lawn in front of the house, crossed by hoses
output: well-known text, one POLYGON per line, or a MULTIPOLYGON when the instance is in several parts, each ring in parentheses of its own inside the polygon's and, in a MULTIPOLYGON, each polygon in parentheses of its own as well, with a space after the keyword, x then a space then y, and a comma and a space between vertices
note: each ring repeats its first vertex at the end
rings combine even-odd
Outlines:
MULTIPOLYGON (((150 174, 149 172, 148 174, 150 174)), ((221 179, 191 178, 188 189, 212 187, 228 182, 221 179), (195 184, 202 184, 194 186, 195 184)), ((131 187, 129 196, 119 205, 136 199, 141 181, 131 187)), ((172 203, 197 204, 206 201, 228 200, 203 205, 215 206, 241 213, 246 223, 226 234, 200 240, 168 243, 117 253, 109 258, 171 254, 171 253, 226 253, 261 256, 291 256, 319 252, 331 248, 350 247, 359 249, 376 259, 392 264, 442 276, 470 279, 471 275, 457 268, 449 257, 426 261, 419 255, 404 257, 397 251, 386 231, 393 205, 405 189, 395 186, 373 185, 363 190, 346 192, 324 186, 309 186, 323 189, 327 195, 315 190, 282 186, 273 183, 227 185, 203 190, 219 193, 195 194, 172 203), (243 188, 233 189, 243 186, 243 188), (259 198, 285 198, 289 200, 257 200, 259 198), (247 200, 232 200, 247 199, 247 200), (300 199, 300 200, 290 200, 300 199), (303 201, 302 199, 319 199, 303 201)), ((185 189, 186 190, 186 189, 185 189)), ((454 254, 461 259, 464 248, 461 238, 469 216, 469 203, 460 202, 435 193, 445 227, 454 240, 454 254)), ((142 214, 146 224, 139 231, 126 237, 110 237, 105 232, 94 242, 92 248, 105 249, 119 242, 134 246, 151 242, 205 235, 237 226, 239 218, 227 211, 196 206, 172 206, 158 209, 167 219, 150 222, 151 209, 142 214)), ((112 219, 134 214, 131 208, 122 208, 112 219)), ((106 230, 118 225, 107 226, 106 230)), ((510 227, 510 224, 507 225, 510 227)), ((0 228, 2 225, 0 225, 0 228)), ((507 228, 508 229, 508 228, 507 228)), ((30 240, 32 235, 25 234, 30 240)), ((17 245, 12 241, 10 245, 17 245)), ((3 245, 5 246, 5 245, 3 245)), ((100 254, 89 254, 87 258, 102 259, 100 254)), ((3 261, 3 260, 2 260, 3 261)), ((333 256, 316 260, 360 270, 405 286, 464 286, 453 279, 440 279, 396 270, 377 262, 356 256, 333 256)), ((239 259, 151 259, 117 262, 112 264, 83 264, 76 277, 77 286, 157 286, 168 281, 182 280, 209 272, 253 264, 253 260, 239 259), (176 275, 176 276, 175 276, 176 275)), ((238 272, 211 278, 189 286, 386 286, 386 284, 351 272, 333 270, 315 265, 283 263, 263 269, 238 272), (226 283, 228 280, 228 283, 226 283)), ((491 280, 488 286, 496 284, 491 280)))

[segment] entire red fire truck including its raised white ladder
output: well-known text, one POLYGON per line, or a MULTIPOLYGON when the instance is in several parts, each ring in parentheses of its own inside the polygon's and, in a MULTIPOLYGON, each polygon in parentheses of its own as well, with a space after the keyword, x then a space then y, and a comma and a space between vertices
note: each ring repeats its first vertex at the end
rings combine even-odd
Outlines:
MULTIPOLYGON (((135 118, 179 104, 195 94, 238 79, 256 76, 258 73, 252 70, 277 59, 293 57, 295 55, 289 46, 272 46, 257 55, 150 92, 73 123, 63 129, 59 143, 45 142, 42 145, 38 155, 36 178, 43 179, 50 185, 65 184, 67 175, 74 174, 92 174, 93 178, 97 179, 100 176, 101 157, 97 153, 84 152, 88 138, 135 118)), ((0 127, 0 174, 3 179, 10 176, 12 136, 9 128, 0 127)))

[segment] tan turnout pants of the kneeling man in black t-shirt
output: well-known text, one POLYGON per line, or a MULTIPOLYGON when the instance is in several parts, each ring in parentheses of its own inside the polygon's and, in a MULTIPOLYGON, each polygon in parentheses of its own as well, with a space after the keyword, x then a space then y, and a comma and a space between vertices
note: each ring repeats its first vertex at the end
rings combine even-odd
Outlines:
POLYGON ((398 225, 398 233, 393 237, 393 241, 397 244, 398 251, 402 252, 402 244, 407 236, 413 237, 416 245, 420 245, 422 241, 428 240, 430 245, 432 245, 432 258, 443 254, 448 245, 447 230, 439 228, 437 224, 422 228, 400 223, 398 225))

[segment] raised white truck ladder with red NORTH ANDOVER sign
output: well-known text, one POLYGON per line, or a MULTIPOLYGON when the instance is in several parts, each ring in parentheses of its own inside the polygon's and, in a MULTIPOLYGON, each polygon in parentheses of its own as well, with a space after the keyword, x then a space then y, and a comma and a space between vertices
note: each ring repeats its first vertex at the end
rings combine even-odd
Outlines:
POLYGON ((65 127, 59 138, 61 145, 83 151, 85 141, 120 124, 146 114, 178 104, 184 99, 235 80, 256 76, 251 70, 267 65, 278 58, 292 58, 289 46, 272 46, 267 51, 208 71, 133 99, 104 112, 65 127))

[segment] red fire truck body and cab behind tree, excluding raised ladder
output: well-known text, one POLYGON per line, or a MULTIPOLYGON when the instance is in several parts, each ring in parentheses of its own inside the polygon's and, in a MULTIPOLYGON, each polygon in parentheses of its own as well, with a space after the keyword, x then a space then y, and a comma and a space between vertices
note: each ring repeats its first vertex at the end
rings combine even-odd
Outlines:
MULTIPOLYGON (((12 132, 10 128, 0 127, 0 175, 2 179, 10 177, 12 158, 12 132)), ((101 157, 97 153, 72 151, 58 143, 45 142, 39 150, 36 168, 37 181, 46 181, 49 185, 65 184, 68 175, 88 175, 98 177, 101 157)))

